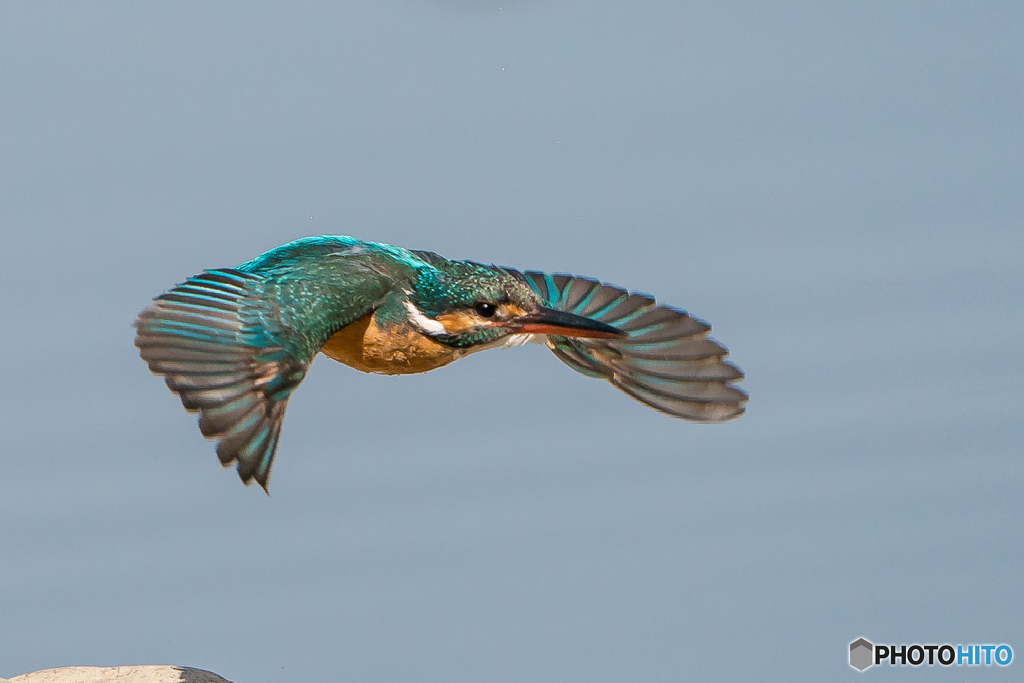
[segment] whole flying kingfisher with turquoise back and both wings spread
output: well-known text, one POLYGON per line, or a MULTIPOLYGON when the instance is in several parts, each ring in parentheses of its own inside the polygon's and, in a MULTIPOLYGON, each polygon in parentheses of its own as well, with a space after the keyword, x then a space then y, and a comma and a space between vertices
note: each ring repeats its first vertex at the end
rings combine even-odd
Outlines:
POLYGON ((685 311, 590 278, 452 260, 342 236, 296 240, 161 294, 135 346, 224 467, 264 490, 288 399, 317 353, 366 373, 424 373, 529 341, 656 411, 742 415, 743 373, 685 311))

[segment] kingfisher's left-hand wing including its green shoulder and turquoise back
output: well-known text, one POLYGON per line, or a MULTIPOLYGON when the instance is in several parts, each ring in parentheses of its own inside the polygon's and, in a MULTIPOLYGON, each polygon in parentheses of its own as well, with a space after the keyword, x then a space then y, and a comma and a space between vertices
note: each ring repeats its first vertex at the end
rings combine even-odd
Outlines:
POLYGON ((296 240, 157 297, 135 322, 135 345, 199 412, 220 462, 237 461, 242 480, 265 489, 292 391, 331 335, 390 291, 380 258, 401 265, 407 256, 351 238, 296 240))

